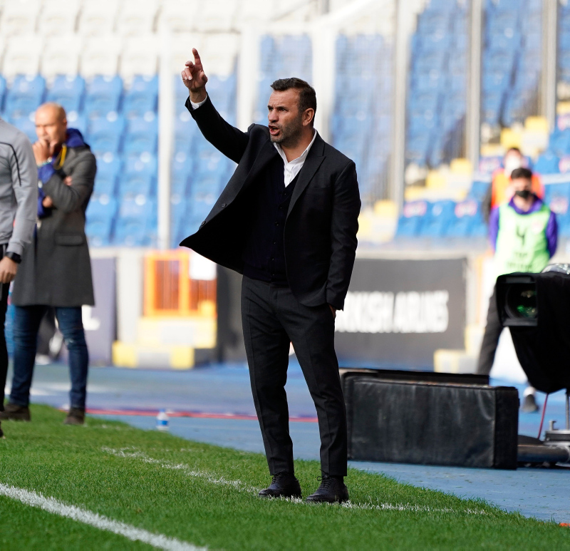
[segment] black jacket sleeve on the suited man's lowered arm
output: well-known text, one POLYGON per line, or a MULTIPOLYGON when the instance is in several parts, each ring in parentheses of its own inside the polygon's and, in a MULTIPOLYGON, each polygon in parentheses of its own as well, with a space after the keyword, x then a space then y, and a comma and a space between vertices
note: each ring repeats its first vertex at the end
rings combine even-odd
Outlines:
POLYGON ((356 165, 351 161, 334 183, 333 214, 331 218, 331 264, 326 283, 326 302, 342 310, 351 282, 358 241, 358 215, 361 197, 358 192, 356 165))

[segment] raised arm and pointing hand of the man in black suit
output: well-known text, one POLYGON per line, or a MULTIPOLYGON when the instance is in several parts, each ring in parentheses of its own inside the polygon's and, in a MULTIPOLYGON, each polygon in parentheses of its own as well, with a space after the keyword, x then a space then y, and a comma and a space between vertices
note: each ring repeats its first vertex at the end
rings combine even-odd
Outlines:
POLYGON ((192 53, 194 61, 187 61, 181 73, 182 82, 189 92, 186 107, 196 120, 204 138, 234 163, 239 163, 247 147, 249 135, 227 123, 214 108, 206 92, 208 78, 204 73, 202 60, 196 48, 192 48, 192 53), (201 105, 195 107, 192 103, 201 105))

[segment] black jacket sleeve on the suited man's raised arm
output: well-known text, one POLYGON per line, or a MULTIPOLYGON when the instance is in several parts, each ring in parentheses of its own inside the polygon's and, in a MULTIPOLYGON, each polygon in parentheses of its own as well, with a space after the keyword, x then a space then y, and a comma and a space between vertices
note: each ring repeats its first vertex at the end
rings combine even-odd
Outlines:
POLYGON ((239 163, 249 142, 249 129, 254 125, 250 126, 248 132, 245 133, 227 123, 214 108, 209 96, 206 102, 197 109, 192 108, 190 98, 188 98, 186 108, 190 111, 190 115, 196 121, 204 138, 234 163, 239 163))

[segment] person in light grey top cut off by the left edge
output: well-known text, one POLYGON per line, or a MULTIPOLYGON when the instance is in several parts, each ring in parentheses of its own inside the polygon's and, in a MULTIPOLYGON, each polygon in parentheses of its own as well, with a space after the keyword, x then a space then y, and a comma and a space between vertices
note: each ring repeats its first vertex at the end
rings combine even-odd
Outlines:
MULTIPOLYGON (((4 410, 4 387, 8 351, 4 321, 10 282, 16 277, 24 245, 31 242, 36 224, 38 173, 27 136, 0 119, 0 411, 4 410)), ((0 438, 4 437, 0 428, 0 438)))

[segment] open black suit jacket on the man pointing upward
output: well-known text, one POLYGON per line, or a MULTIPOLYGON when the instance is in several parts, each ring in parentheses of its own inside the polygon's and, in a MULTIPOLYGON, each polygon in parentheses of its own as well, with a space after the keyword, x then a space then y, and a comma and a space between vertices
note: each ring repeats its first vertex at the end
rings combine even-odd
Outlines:
MULTIPOLYGON (((253 124, 244 133, 227 123, 209 98, 198 109, 188 99, 186 107, 204 137, 238 166, 199 230, 180 244, 243 273, 252 183, 279 153, 266 126, 253 124)), ((317 135, 291 196, 284 230, 287 279, 301 304, 343 308, 360 208, 356 165, 317 135)))

